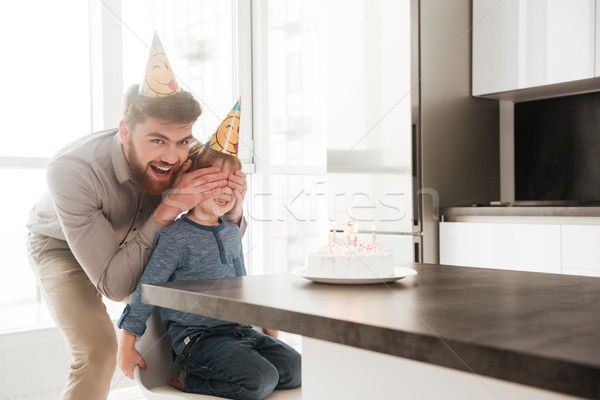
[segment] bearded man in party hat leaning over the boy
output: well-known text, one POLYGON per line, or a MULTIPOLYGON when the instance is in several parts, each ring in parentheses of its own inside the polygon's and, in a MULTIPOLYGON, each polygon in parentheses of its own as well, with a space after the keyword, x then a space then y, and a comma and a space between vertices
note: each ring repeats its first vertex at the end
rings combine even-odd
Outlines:
POLYGON ((243 222, 245 174, 186 173, 200 114, 155 35, 143 84, 124 97, 119 128, 77 140, 48 164, 48 193, 30 214, 27 244, 72 357, 63 399, 107 398, 117 341, 102 296, 120 301, 135 290, 161 227, 224 186, 237 200, 229 219, 243 222))

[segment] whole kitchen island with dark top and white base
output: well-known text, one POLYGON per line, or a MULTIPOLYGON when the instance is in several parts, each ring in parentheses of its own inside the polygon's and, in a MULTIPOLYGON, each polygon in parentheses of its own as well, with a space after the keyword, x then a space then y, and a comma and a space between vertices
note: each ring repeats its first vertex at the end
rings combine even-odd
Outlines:
POLYGON ((143 301, 302 335, 305 399, 600 398, 599 278, 404 266, 419 274, 172 282, 143 301))

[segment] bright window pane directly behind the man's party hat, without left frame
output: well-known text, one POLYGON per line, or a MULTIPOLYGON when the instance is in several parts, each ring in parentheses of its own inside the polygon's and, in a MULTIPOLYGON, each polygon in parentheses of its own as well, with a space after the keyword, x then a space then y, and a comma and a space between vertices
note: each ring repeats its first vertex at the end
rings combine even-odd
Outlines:
MULTIPOLYGON (((237 87, 237 19, 233 1, 215 0, 122 0, 123 83, 141 81, 154 31, 164 45, 180 86, 202 104, 203 113, 194 135, 204 141, 243 96, 237 87), (150 5, 149 5, 150 4, 150 5)), ((242 99, 242 118, 246 101, 242 99)), ((244 161, 251 160, 251 138, 246 133, 241 149, 244 161)))

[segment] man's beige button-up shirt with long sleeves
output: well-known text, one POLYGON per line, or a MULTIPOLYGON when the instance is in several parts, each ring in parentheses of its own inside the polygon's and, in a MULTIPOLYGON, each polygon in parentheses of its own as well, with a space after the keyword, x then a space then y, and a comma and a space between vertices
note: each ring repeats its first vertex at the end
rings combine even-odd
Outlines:
POLYGON ((133 179, 118 130, 85 136, 47 168, 48 192, 31 210, 30 232, 66 240, 98 290, 120 301, 131 294, 161 226, 161 201, 133 179))

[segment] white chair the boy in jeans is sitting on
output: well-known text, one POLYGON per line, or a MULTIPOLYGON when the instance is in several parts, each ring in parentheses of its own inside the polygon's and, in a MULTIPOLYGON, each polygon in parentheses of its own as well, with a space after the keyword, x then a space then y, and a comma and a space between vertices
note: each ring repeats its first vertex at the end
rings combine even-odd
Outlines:
MULTIPOLYGON (((146 332, 137 338, 135 348, 142 355, 148 367, 145 371, 136 367, 133 376, 144 397, 148 400, 209 400, 221 397, 205 394, 184 393, 168 385, 169 378, 179 371, 179 362, 173 361, 171 342, 160 321, 158 307, 146 322, 146 332)), ((269 400, 300 400, 302 388, 293 390, 275 390, 269 400)))

